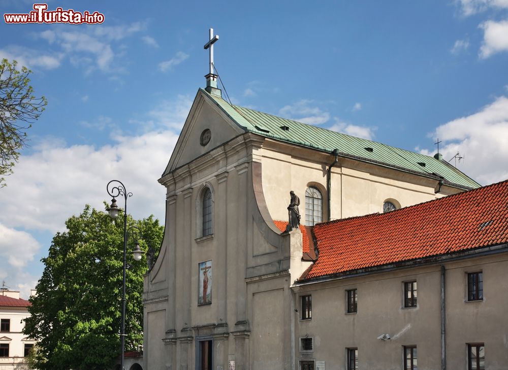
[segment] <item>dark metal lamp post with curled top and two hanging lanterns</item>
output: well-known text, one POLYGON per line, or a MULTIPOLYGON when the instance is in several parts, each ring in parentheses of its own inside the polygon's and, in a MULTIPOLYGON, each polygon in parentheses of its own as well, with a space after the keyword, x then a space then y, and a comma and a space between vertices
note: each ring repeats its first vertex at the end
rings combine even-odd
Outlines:
MULTIPOLYGON (((125 272, 127 269, 127 240, 128 240, 128 231, 131 229, 137 229, 136 234, 139 233, 139 237, 141 237, 141 230, 139 230, 136 226, 131 226, 127 229, 127 198, 132 197, 132 193, 128 193, 125 190, 125 186, 119 180, 111 180, 108 182, 106 186, 106 190, 108 194, 113 197, 111 199, 111 205, 107 209, 111 218, 115 219, 118 217, 118 211, 120 208, 116 205, 116 198, 122 196, 125 203, 123 209, 123 276, 122 276, 122 324, 120 330, 120 370, 124 370, 123 368, 123 355, 125 352, 125 272)), ((137 235, 138 236, 138 235, 137 235)), ((143 255, 143 251, 139 247, 139 238, 136 238, 135 249, 132 251, 134 254, 134 259, 136 261, 141 260, 141 256, 143 255)))

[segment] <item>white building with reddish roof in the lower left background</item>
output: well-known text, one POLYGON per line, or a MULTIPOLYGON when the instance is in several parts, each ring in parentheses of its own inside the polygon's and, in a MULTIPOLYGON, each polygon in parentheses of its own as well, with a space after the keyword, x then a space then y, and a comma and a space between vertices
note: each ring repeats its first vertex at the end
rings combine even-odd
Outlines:
POLYGON ((0 289, 0 370, 29 368, 26 356, 35 341, 22 332, 29 305, 30 302, 19 298, 19 291, 0 289))

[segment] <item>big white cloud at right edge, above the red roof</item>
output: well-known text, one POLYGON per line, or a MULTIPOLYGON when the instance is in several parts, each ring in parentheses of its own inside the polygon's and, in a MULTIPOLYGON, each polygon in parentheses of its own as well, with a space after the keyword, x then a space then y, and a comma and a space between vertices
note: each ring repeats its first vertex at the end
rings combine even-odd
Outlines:
POLYGON ((508 178, 508 98, 498 97, 477 113, 439 126, 433 136, 443 141, 443 158, 459 152, 464 161, 458 168, 481 184, 508 178))

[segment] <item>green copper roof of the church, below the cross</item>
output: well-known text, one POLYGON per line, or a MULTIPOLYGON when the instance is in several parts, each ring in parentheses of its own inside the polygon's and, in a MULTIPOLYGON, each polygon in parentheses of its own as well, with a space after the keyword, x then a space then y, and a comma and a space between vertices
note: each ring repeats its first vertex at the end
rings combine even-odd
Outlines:
POLYGON ((439 175, 444 177, 446 182, 459 187, 480 187, 478 182, 446 161, 439 161, 434 157, 409 152, 380 142, 231 105, 219 96, 209 94, 203 89, 200 90, 209 96, 237 125, 247 131, 330 153, 334 149, 338 149, 340 156, 354 157, 425 175, 439 175))

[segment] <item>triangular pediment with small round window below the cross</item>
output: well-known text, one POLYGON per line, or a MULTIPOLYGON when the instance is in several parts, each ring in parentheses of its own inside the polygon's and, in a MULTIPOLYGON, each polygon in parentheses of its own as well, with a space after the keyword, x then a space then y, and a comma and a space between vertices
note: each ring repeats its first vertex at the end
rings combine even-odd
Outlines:
POLYGON ((207 92, 198 90, 163 176, 244 132, 207 92))

